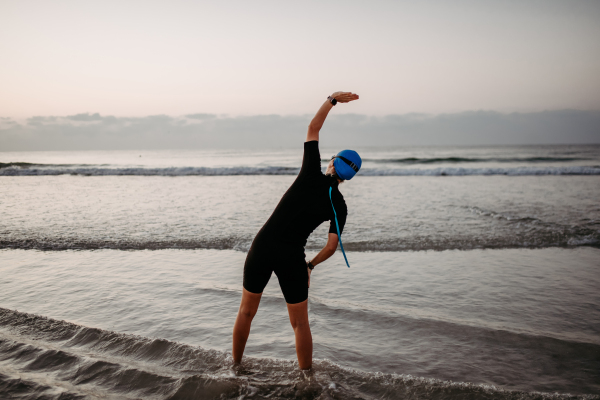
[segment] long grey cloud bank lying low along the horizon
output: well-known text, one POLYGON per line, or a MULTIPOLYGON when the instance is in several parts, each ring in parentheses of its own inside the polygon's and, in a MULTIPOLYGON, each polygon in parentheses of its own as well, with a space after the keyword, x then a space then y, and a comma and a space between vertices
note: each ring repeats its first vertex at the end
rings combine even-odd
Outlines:
MULTIPOLYGON (((109 150, 291 147, 305 138, 310 115, 228 117, 36 116, 0 121, 0 150, 109 150)), ((329 116, 324 146, 510 145, 600 143, 600 111, 503 114, 329 116)))

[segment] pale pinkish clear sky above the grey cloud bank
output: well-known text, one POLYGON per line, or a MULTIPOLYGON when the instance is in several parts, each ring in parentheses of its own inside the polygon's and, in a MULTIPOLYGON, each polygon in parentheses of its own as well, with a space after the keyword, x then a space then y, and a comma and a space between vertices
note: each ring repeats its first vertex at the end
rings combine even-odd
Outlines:
POLYGON ((571 133, 589 141, 598 38, 600 1, 0 0, 0 146, 46 134, 33 117, 283 123, 337 90, 360 100, 335 113, 371 130, 393 115, 575 110, 571 133))

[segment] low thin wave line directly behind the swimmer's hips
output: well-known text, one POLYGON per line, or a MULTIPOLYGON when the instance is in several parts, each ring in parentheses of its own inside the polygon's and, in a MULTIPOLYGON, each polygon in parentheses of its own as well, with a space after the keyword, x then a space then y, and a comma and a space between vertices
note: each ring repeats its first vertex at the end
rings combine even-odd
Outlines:
MULTIPOLYGON (((491 216, 493 218, 493 216, 491 216)), ((600 247, 600 231, 588 227, 569 227, 538 221, 515 219, 514 224, 526 224, 519 231, 511 234, 476 236, 424 236, 414 235, 402 238, 378 240, 344 240, 344 248, 349 251, 424 251, 424 250, 473 250, 473 249, 539 249, 548 247, 573 248, 580 246, 600 247)), ((162 249, 216 249, 248 251, 252 238, 226 236, 206 239, 146 239, 146 238, 96 238, 78 235, 77 237, 61 235, 20 237, 17 234, 0 237, 0 249, 34 249, 46 251, 61 250, 162 250, 162 249)), ((307 250, 320 250, 321 243, 308 241, 307 250)))

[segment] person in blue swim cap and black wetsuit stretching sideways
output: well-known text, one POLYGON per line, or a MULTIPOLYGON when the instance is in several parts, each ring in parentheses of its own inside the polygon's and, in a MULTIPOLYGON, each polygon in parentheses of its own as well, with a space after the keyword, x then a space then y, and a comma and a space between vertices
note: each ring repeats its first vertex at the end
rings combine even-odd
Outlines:
POLYGON ((252 242, 244 265, 242 302, 233 327, 233 360, 236 363, 242 361, 250 324, 271 273, 275 272, 296 336, 298 364, 303 370, 312 366, 312 336, 307 309, 310 274, 314 266, 327 260, 337 249, 338 234, 342 233, 347 215, 338 184, 351 179, 361 165, 355 151, 344 150, 332 157, 323 175, 319 131, 336 103, 357 99, 356 94, 336 92, 323 103, 308 126, 298 177, 252 242), (306 239, 327 220, 331 221, 327 244, 307 263, 304 254, 306 239))

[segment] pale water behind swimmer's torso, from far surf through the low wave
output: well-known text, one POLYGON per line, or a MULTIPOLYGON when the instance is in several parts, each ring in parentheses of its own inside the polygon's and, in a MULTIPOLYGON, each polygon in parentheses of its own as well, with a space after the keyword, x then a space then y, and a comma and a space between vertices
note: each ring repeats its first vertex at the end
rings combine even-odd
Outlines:
MULTIPOLYGON (((0 245, 247 251, 292 176, 0 177, 0 245)), ((600 244, 600 176, 357 177, 354 251, 600 244)), ((323 224, 308 248, 325 244, 323 224)))

